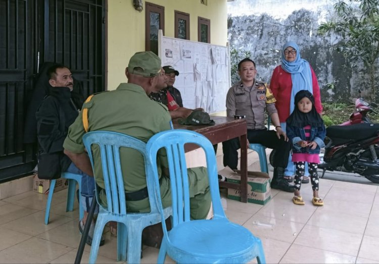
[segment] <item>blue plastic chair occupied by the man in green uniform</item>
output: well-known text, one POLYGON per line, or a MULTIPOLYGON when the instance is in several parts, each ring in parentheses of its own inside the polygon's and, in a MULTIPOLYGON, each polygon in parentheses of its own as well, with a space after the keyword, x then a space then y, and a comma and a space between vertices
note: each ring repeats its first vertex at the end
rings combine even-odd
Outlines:
MULTIPOLYGON (((99 204, 99 215, 92 238, 89 263, 96 262, 100 238, 105 224, 109 221, 118 222, 117 261, 127 260, 128 263, 139 263, 143 229, 161 222, 161 215, 158 211, 155 199, 152 198, 152 194, 154 193, 152 186, 153 175, 151 171, 149 171, 149 167, 146 166, 146 143, 131 136, 110 131, 88 132, 83 136, 83 142, 88 151, 92 168, 94 168, 93 155, 90 150, 93 149, 93 147, 96 147, 96 145, 100 147, 104 185, 108 204, 108 207, 105 207, 100 203, 99 186, 96 186, 96 199, 99 204), (144 156, 146 181, 151 208, 150 213, 126 212, 124 178, 122 176, 120 163, 121 147, 136 149, 144 156)), ((163 215, 165 219, 167 219, 171 215, 171 207, 165 208, 163 215)))

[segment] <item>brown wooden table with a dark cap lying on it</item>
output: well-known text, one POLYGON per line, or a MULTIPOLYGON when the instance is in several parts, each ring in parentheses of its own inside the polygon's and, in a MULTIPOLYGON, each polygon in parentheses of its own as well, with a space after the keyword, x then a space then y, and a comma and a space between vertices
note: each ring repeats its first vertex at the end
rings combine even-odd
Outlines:
MULTIPOLYGON (((176 120, 173 120, 174 129, 187 129, 198 132, 206 136, 212 144, 217 144, 235 137, 241 137, 241 183, 219 182, 219 186, 225 188, 233 188, 241 191, 241 201, 248 201, 248 174, 247 174, 247 125, 245 119, 234 119, 230 117, 211 116, 211 119, 216 123, 214 126, 190 126, 179 125, 176 120)), ((191 151, 198 148, 194 144, 186 144, 185 151, 191 151)))

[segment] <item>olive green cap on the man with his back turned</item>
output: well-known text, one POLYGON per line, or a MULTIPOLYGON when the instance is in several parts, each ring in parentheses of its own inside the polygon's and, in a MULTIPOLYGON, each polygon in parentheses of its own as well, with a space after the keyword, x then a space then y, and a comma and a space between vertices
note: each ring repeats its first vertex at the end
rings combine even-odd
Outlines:
POLYGON ((129 61, 128 71, 135 75, 154 77, 161 72, 161 59, 152 51, 136 52, 129 61))

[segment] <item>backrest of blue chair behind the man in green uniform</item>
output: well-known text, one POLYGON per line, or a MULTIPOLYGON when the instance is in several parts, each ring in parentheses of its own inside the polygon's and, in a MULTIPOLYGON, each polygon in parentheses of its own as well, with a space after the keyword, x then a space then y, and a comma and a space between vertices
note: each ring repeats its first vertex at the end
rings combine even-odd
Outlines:
MULTIPOLYGON (((129 147, 138 150, 144 156, 151 213, 158 213, 156 202, 154 198, 151 198, 151 194, 154 193, 154 189, 150 183, 153 179, 151 179, 152 174, 148 173, 150 167, 147 166, 148 161, 145 142, 122 133, 111 131, 88 132, 83 136, 83 142, 88 151, 92 168, 94 168, 92 152, 93 148, 96 147, 94 145, 98 145, 100 147, 104 185, 108 204, 108 208, 104 209, 108 210, 108 212, 112 214, 126 215, 123 178, 123 173, 125 172, 121 171, 120 148, 129 147)), ((96 198, 98 199, 98 203, 101 204, 99 200, 98 187, 96 189, 96 198)))

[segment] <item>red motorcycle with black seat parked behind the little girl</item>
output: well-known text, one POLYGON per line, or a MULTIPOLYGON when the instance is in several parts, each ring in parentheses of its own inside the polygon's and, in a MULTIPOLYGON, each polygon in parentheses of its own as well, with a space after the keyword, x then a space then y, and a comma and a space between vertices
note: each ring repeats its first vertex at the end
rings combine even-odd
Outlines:
MULTIPOLYGON (((379 124, 372 124, 368 113, 376 113, 375 103, 360 98, 355 101, 356 111, 349 121, 326 128, 325 152, 320 153, 318 168, 322 176, 326 171, 357 173, 374 183, 379 183, 379 124), (372 106, 372 107, 371 107, 372 106)), ((272 164, 273 151, 270 154, 272 164)))

